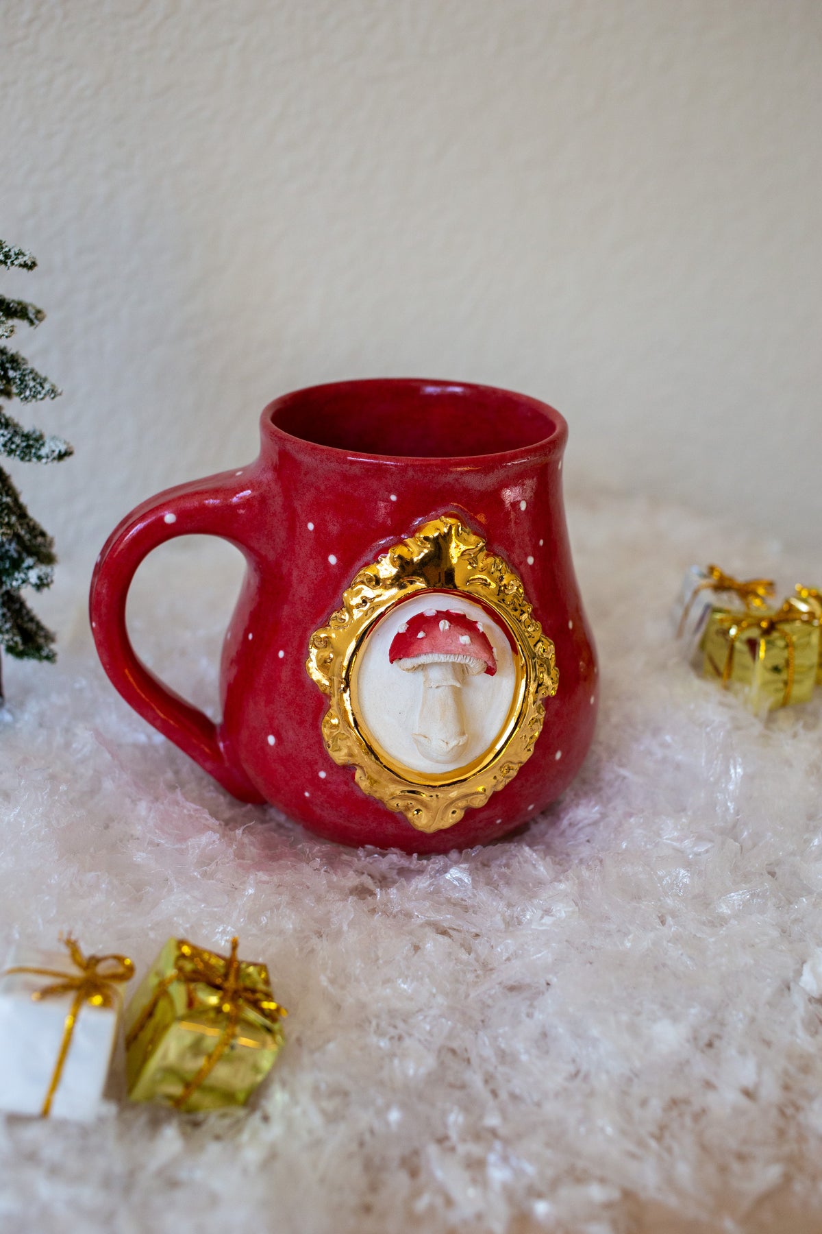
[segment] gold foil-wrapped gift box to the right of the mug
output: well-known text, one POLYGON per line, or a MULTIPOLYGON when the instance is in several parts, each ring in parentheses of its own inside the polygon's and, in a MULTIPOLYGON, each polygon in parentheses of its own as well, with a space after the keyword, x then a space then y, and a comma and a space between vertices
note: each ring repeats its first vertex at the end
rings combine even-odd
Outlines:
POLYGON ((820 616, 786 600, 775 613, 712 612, 704 673, 743 687, 752 711, 808 702, 820 664, 820 616))

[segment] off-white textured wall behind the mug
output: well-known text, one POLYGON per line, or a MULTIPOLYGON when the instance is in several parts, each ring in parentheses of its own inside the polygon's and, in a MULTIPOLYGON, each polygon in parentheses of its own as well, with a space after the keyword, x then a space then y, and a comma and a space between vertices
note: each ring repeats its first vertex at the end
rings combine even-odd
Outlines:
POLYGON ((816 536, 818 0, 17 0, 1 32, 0 234, 41 263, 4 286, 78 452, 21 480, 64 557, 250 458, 277 392, 377 374, 521 387, 572 484, 816 536))

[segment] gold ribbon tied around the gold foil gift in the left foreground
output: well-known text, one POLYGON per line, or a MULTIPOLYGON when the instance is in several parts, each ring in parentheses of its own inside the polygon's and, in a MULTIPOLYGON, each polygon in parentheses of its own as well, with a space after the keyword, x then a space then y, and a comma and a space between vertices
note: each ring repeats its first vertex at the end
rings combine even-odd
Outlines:
POLYGON ((192 943, 180 942, 177 944, 174 969, 158 982, 154 993, 126 1035, 126 1048, 128 1049, 150 1021, 163 995, 175 981, 185 982, 190 993, 191 986, 205 985, 222 995, 219 1009, 226 1016, 226 1024, 213 1050, 203 1059, 200 1070, 177 1097, 175 1097, 173 1104, 176 1109, 181 1109, 186 1104, 189 1098, 217 1066, 217 1062, 237 1035, 239 1022, 245 1011, 256 1012, 272 1028, 277 1025, 280 1019, 288 1014, 285 1007, 274 1001, 270 988, 258 988, 243 979, 240 960, 237 955, 238 946, 239 939, 233 938, 232 954, 224 956, 205 951, 192 943))

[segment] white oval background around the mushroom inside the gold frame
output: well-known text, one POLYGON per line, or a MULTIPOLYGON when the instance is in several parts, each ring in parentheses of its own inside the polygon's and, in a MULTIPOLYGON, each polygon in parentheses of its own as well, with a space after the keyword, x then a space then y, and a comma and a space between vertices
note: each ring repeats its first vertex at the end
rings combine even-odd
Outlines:
POLYGON ((497 740, 511 706, 516 669, 508 637, 486 608, 454 591, 424 591, 396 605, 367 636, 356 669, 357 722, 366 738, 376 740, 394 761, 412 771, 441 775, 467 766, 497 740), (419 673, 405 673, 391 664, 388 652, 399 627, 428 608, 444 613, 463 612, 478 621, 494 649, 497 673, 466 675, 460 690, 460 707, 467 743, 451 761, 435 763, 419 750, 414 729, 425 689, 419 673))

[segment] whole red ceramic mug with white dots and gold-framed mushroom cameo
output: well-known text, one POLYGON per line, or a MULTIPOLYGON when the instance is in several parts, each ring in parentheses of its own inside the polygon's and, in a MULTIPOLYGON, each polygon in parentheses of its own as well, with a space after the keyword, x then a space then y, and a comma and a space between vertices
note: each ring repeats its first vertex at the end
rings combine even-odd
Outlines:
POLYGON ((489 386, 344 381, 285 395, 256 462, 168 489, 91 582, 102 665, 230 793, 346 844, 437 853, 553 801, 592 740, 596 666, 553 408, 489 386), (213 724, 138 659, 134 571, 222 536, 248 568, 213 724))

